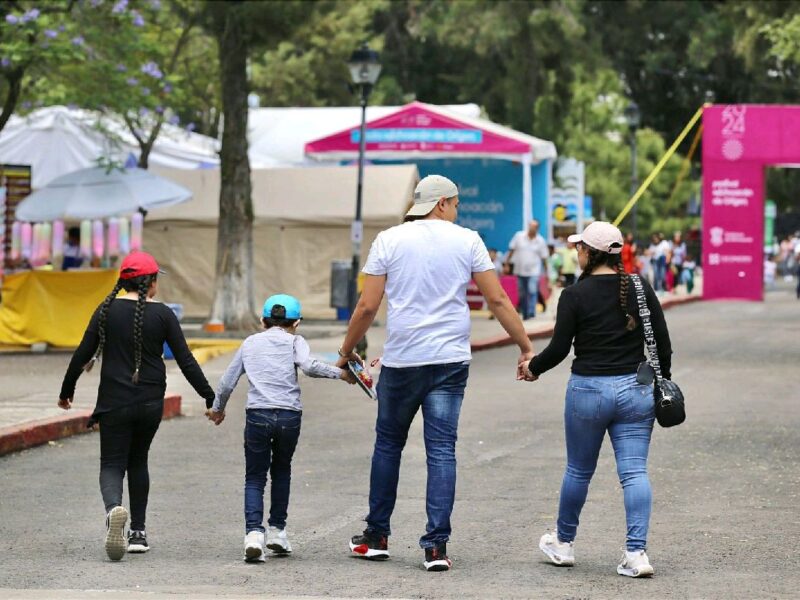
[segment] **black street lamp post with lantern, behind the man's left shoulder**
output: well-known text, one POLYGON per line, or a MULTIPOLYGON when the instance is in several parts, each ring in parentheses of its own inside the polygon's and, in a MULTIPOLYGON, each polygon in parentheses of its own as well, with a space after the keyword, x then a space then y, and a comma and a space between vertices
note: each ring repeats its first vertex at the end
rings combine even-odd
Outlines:
POLYGON ((353 243, 353 263, 350 269, 350 282, 348 286, 348 305, 350 315, 353 315, 358 296, 358 271, 361 261, 361 241, 364 237, 364 224, 361 220, 361 198, 364 187, 364 151, 367 145, 367 100, 381 74, 379 54, 363 44, 353 52, 347 62, 353 85, 361 93, 361 131, 358 138, 358 185, 356 187, 356 218, 350 229, 350 240, 353 243))

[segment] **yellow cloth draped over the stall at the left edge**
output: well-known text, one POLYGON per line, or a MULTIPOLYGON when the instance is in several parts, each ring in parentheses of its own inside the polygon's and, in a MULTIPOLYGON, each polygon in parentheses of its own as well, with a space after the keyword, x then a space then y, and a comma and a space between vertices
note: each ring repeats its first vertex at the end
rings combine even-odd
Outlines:
POLYGON ((94 310, 114 289, 116 270, 26 271, 3 281, 0 344, 77 346, 94 310))

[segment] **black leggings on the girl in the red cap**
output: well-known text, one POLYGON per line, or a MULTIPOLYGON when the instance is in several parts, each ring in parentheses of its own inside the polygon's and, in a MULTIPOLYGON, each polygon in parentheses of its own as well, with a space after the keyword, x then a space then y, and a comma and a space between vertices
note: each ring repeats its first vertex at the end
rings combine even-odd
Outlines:
POLYGON ((100 415, 100 492, 106 513, 122 505, 122 480, 127 471, 131 529, 137 531, 144 531, 150 493, 147 454, 163 411, 163 400, 150 400, 100 415))

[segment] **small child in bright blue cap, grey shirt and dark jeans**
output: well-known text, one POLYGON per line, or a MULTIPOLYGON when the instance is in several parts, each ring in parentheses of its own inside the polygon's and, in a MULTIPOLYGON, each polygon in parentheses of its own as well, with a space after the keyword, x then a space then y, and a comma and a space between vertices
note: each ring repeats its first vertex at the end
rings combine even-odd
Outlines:
POLYGON ((297 327, 300 302, 287 294, 270 296, 264 303, 264 331, 251 335, 239 348, 220 380, 208 418, 219 425, 225 405, 242 374, 247 375, 247 418, 244 430, 245 484, 244 559, 264 562, 265 546, 276 554, 292 551, 286 535, 292 456, 300 437, 303 406, 297 367, 310 377, 343 379, 355 383, 349 371, 311 358, 311 349, 297 327), (265 531, 264 488, 272 477, 269 529, 265 531), (266 533, 266 540, 264 539, 266 533))

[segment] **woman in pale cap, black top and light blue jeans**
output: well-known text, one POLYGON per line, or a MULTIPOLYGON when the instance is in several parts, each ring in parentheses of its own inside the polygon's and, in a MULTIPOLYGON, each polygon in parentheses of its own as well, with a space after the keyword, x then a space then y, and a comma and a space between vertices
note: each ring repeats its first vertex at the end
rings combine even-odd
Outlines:
MULTIPOLYGON (((653 431, 653 385, 639 383, 645 363, 644 330, 633 284, 620 260, 622 234, 611 223, 596 221, 570 236, 578 244, 580 280, 566 288, 558 304, 550 344, 528 365, 526 379, 535 381, 570 352, 575 360, 567 384, 564 428, 567 468, 561 484, 558 521, 539 548, 557 565, 575 564, 574 540, 603 438, 608 432, 617 461, 625 501, 625 553, 617 573, 647 577, 653 567, 645 549, 652 492, 647 455, 653 431)), ((670 378, 671 346, 661 304, 642 282, 651 311, 663 376, 670 378)))

